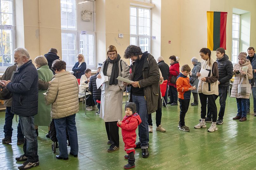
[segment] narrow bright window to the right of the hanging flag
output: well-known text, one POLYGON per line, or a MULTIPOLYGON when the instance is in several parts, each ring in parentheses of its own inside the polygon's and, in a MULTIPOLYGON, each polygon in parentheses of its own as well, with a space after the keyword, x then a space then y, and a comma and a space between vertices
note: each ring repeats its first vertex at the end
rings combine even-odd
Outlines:
POLYGON ((232 20, 232 62, 238 62, 240 41, 240 15, 233 14, 232 20))

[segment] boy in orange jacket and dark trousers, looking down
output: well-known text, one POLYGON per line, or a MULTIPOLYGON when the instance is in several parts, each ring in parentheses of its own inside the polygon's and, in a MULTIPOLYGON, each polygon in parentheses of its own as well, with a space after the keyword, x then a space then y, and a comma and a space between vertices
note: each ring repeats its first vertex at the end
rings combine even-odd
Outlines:
POLYGON ((195 90, 195 86, 192 87, 189 83, 189 72, 191 71, 191 68, 189 65, 185 64, 181 67, 181 73, 178 76, 178 79, 176 81, 177 85, 177 91, 179 92, 178 98, 180 102, 180 121, 178 128, 179 130, 188 132, 189 127, 185 126, 185 115, 189 109, 189 101, 190 101, 190 95, 191 90, 195 90))

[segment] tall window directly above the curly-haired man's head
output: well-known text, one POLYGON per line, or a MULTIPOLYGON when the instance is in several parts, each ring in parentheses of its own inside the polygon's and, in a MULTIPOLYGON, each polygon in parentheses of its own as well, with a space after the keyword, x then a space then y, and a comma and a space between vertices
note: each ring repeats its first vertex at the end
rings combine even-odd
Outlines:
POLYGON ((150 52, 150 9, 130 7, 130 44, 150 52))

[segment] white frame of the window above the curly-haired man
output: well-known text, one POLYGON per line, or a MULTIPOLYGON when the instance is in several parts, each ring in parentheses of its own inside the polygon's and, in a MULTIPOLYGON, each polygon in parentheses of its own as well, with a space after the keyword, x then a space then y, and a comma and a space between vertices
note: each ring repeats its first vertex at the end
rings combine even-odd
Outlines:
MULTIPOLYGON (((136 10, 137 10, 137 17, 136 17, 137 18, 136 19, 136 21, 137 21, 137 25, 136 25, 137 34, 131 34, 131 30, 130 30, 130 44, 131 44, 131 37, 136 38, 136 46, 139 46, 139 39, 140 38, 149 38, 149 50, 148 50, 148 53, 150 53, 150 51, 151 51, 151 18, 152 18, 152 16, 151 16, 151 9, 150 8, 144 8, 144 7, 142 8, 142 7, 130 5, 130 9, 131 9, 131 7, 132 8, 136 8, 136 10), (149 35, 139 35, 138 34, 138 23, 139 23, 139 20, 138 20, 138 18, 139 18, 139 16, 138 16, 139 11, 138 11, 138 9, 148 9, 149 10, 149 16, 150 16, 150 18, 149 18, 149 35)), ((130 13, 129 16, 130 16, 130 20, 131 20, 131 13, 130 13)), ((129 26, 131 26, 131 21, 130 21, 129 26)), ((130 29, 131 29, 131 27, 130 27, 130 29)))

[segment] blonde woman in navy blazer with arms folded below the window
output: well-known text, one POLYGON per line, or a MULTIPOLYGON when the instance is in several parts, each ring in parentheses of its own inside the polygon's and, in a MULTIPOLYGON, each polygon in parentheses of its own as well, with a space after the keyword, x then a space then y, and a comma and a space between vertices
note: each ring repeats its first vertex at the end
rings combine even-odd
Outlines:
POLYGON ((75 63, 74 67, 72 68, 72 71, 74 72, 74 76, 77 79, 81 79, 81 76, 84 74, 86 70, 86 63, 85 63, 85 57, 82 54, 77 55, 78 62, 75 63))

